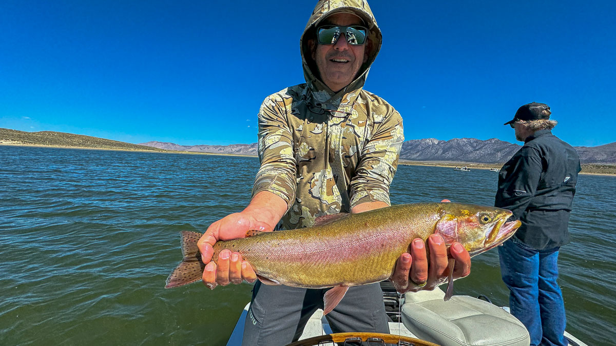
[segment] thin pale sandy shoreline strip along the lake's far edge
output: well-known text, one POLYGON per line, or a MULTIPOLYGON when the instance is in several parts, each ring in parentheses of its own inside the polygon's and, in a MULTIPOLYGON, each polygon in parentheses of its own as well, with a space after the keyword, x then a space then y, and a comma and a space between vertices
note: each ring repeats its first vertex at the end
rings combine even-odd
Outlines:
MULTIPOLYGON (((139 153, 161 153, 161 154, 195 154, 195 155, 218 155, 218 156, 241 156, 246 158, 256 158, 256 155, 239 155, 239 154, 225 154, 225 153, 201 153, 198 151, 180 151, 180 150, 138 150, 138 149, 123 149, 123 148, 94 148, 94 147, 67 147, 60 145, 36 145, 36 144, 24 144, 24 143, 10 143, 0 142, 0 146, 12 146, 12 147, 36 147, 36 148, 59 148, 59 149, 83 149, 83 150, 115 150, 115 151, 133 151, 139 153)), ((409 161, 400 159, 399 164, 403 166, 431 166, 431 167, 462 167, 466 166, 469 169, 500 169, 503 164, 488 164, 488 163, 452 163, 448 161, 409 161)), ((598 164, 591 164, 598 165, 598 164)), ((582 165, 585 166, 585 165, 582 165)), ((604 169, 604 172, 580 172, 580 174, 586 175, 604 175, 609 177, 616 177, 616 165, 601 164, 601 166, 610 166, 609 169, 604 169)), ((582 168, 583 169, 583 168, 582 168)))

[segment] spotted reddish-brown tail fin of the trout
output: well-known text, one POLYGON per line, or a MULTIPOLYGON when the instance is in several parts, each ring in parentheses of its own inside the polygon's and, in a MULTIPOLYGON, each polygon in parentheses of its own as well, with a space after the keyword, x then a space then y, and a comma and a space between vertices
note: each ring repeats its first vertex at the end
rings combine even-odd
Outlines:
POLYGON ((201 280, 205 264, 201 261, 201 253, 197 247, 199 238, 201 238, 201 233, 180 232, 180 247, 182 248, 184 259, 171 272, 164 288, 184 286, 185 284, 201 280))

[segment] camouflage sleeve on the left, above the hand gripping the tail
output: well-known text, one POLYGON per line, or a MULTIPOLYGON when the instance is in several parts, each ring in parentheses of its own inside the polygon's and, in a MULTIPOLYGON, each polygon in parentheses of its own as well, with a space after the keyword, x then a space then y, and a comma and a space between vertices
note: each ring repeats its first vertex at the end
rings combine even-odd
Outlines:
POLYGON ((293 135, 286 121, 285 99, 280 94, 267 97, 259 110, 259 161, 253 196, 270 191, 286 201, 295 200, 296 166, 293 135))

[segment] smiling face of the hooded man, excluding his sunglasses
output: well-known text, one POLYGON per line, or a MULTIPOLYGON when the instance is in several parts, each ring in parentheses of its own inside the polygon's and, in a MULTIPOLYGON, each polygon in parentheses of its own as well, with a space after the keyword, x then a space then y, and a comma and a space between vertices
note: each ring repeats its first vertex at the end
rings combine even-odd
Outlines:
MULTIPOLYGON (((337 13, 323 20, 322 25, 363 25, 362 20, 353 14, 337 13)), ((336 44, 318 44, 312 50, 312 58, 317 63, 322 81, 332 91, 338 92, 351 84, 357 71, 368 59, 365 55, 366 44, 354 46, 349 44, 344 34, 336 44)))

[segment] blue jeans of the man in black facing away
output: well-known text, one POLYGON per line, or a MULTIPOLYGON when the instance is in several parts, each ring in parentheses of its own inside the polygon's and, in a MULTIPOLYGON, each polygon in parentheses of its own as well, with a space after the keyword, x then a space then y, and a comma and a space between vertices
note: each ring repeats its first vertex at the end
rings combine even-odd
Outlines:
POLYGON ((558 249, 536 250, 517 239, 498 247, 509 308, 529 330, 530 345, 566 346, 565 305, 558 278, 558 249))

